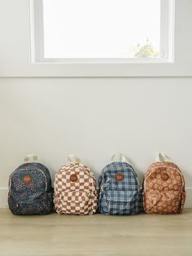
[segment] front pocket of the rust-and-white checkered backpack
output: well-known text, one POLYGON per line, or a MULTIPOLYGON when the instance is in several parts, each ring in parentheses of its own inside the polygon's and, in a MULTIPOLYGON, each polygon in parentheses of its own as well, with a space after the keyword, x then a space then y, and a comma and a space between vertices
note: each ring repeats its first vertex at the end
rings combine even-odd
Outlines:
POLYGON ((58 214, 93 214, 90 192, 66 191, 55 193, 55 210, 58 214))

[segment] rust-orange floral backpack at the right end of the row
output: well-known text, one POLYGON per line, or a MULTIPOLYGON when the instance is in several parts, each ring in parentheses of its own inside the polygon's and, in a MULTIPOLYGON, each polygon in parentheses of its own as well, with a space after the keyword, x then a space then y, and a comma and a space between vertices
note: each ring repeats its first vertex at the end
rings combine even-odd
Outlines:
POLYGON ((181 170, 164 153, 146 170, 143 206, 146 214, 181 214, 185 204, 185 181, 181 170))

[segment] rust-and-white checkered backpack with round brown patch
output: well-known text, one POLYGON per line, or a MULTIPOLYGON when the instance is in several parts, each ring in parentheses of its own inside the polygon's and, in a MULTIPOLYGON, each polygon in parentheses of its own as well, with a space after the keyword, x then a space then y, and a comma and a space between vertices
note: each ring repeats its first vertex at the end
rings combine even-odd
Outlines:
POLYGON ((55 210, 58 214, 94 214, 98 205, 94 174, 78 157, 70 155, 68 161, 55 174, 55 210))

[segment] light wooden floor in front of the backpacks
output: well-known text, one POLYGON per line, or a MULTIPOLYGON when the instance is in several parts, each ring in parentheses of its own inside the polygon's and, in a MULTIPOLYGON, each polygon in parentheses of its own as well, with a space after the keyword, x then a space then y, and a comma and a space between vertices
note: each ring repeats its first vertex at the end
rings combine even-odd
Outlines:
POLYGON ((14 216, 0 210, 0 255, 192 255, 192 209, 181 215, 14 216))

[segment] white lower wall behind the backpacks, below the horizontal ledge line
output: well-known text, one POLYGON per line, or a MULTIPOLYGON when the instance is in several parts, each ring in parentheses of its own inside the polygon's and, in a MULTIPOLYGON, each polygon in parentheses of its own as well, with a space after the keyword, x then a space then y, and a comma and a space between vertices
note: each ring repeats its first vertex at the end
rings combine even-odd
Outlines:
POLYGON ((114 152, 142 174, 164 151, 192 207, 192 78, 0 78, 0 206, 9 174, 37 153, 52 176, 75 153, 98 176, 114 152))

